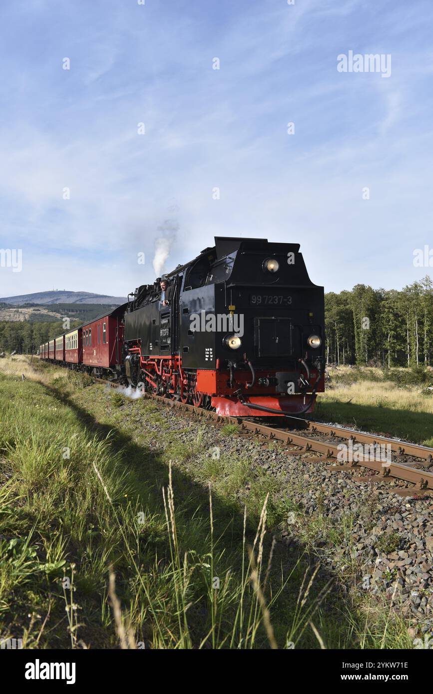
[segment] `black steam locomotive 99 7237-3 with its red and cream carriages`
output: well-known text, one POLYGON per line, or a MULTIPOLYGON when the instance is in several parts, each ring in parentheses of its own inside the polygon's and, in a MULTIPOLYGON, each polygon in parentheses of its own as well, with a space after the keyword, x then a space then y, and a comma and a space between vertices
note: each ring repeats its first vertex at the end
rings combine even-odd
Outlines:
POLYGON ((299 244, 215 237, 165 277, 168 304, 158 278, 74 339, 65 333, 63 353, 41 346, 42 358, 67 362, 73 345, 72 368, 218 414, 312 412, 324 389, 324 296, 299 244))

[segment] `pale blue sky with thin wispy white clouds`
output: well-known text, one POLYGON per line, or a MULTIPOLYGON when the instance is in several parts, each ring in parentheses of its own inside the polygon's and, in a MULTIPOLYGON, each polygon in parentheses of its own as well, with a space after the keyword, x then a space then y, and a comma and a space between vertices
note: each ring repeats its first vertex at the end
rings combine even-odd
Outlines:
POLYGON ((430 0, 3 0, 0 248, 23 268, 0 296, 125 296, 157 237, 166 270, 242 235, 299 242, 328 291, 433 274, 413 264, 433 248, 432 20, 430 0), (350 50, 391 75, 337 71, 350 50))

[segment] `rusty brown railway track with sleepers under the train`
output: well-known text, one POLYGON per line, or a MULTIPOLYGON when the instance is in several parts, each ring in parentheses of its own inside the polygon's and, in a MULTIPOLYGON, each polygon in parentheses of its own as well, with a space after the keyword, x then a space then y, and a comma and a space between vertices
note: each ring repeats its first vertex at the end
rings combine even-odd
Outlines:
MULTIPOLYGON (((112 387, 119 386, 119 384, 109 380, 101 378, 96 380, 112 387)), ((195 407, 181 403, 180 400, 165 398, 153 393, 143 393, 143 396, 158 400, 168 407, 180 408, 207 416, 216 422, 236 424, 242 432, 280 441, 287 446, 288 455, 314 453, 314 457, 309 457, 308 462, 334 465, 337 463, 334 467, 336 471, 362 471, 362 468, 368 468, 369 471, 375 473, 374 476, 370 473, 368 477, 357 477, 356 479, 359 481, 391 482, 391 480, 403 480, 414 484, 415 492, 419 496, 431 496, 433 494, 433 448, 418 446, 415 443, 398 439, 389 439, 376 434, 357 432, 353 429, 323 424, 309 419, 289 417, 289 420, 293 420, 303 427, 303 433, 300 433, 295 429, 269 426, 243 417, 222 416, 210 409, 195 407), (361 444, 361 448, 359 448, 359 444, 361 444), (352 459, 350 462, 341 464, 341 458, 344 457, 343 446, 346 446, 346 450, 352 451, 352 455, 350 455, 352 459), (380 455, 384 451, 387 452, 385 458, 380 455)), ((394 487, 393 491, 402 496, 408 496, 414 490, 408 491, 394 487)))

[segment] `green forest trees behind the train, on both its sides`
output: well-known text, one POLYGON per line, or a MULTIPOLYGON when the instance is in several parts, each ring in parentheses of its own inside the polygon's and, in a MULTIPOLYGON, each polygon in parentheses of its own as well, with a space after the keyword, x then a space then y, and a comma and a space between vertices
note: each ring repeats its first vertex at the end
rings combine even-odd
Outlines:
MULTIPOLYGON (((80 321, 71 321, 71 328, 80 321)), ((0 321, 0 350, 31 354, 61 335, 62 321, 0 321)), ((430 366, 433 359, 433 282, 429 276, 396 289, 355 285, 325 294, 328 364, 430 366)))

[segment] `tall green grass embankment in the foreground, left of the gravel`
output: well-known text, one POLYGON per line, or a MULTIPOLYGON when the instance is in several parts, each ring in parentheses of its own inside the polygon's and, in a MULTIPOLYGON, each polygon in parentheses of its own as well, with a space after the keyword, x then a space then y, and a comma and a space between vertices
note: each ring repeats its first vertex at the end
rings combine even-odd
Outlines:
MULTIPOLYGON (((0 360, 0 638, 411 648, 387 602, 317 573, 316 543, 350 541, 350 518, 332 525, 320 503, 305 516, 296 481, 208 450, 205 425, 182 440, 162 406, 120 396, 119 407, 103 386, 34 362, 0 360), (300 549, 274 540, 288 516, 300 549)), ((350 559, 337 578, 350 585, 356 571, 350 559)))

